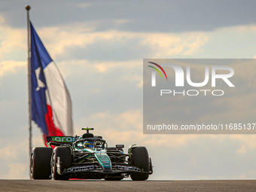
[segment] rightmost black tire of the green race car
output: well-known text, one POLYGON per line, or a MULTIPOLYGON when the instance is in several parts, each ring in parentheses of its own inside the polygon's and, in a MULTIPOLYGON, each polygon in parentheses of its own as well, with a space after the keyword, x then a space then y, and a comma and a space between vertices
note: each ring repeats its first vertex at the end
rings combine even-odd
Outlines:
MULTIPOLYGON (((139 167, 143 172, 149 172, 150 160, 148 157, 148 150, 145 147, 133 147, 131 150, 132 165, 139 167)), ((131 174, 133 181, 145 181, 148 179, 148 174, 131 174)))

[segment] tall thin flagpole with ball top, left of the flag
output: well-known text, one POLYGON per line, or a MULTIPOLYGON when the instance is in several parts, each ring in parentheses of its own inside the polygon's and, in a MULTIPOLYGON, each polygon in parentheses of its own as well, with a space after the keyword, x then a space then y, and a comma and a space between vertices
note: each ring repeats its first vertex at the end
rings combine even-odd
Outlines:
POLYGON ((30 6, 26 5, 26 23, 28 29, 28 91, 29 91, 29 178, 31 178, 30 168, 30 153, 32 151, 32 105, 31 105, 31 40, 30 40, 30 22, 29 22, 29 10, 30 6))

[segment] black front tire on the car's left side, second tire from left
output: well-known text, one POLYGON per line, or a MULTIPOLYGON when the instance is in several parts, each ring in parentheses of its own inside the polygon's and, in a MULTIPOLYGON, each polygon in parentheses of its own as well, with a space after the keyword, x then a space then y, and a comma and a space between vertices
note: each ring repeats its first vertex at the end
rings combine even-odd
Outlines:
POLYGON ((57 157, 61 162, 61 172, 72 166, 72 154, 70 148, 56 147, 51 158, 51 175, 54 180, 69 180, 70 175, 59 175, 57 172, 57 157))

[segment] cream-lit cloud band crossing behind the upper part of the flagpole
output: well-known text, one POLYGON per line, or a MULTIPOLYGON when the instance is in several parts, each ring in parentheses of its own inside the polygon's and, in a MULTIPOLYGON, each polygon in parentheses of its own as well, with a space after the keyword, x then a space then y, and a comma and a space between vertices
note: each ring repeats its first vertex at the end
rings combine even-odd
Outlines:
MULTIPOLYGON (((26 29, 14 29, 1 17, 0 61, 25 61, 26 29)), ((126 23, 128 20, 116 20, 126 23)), ((86 23, 35 29, 53 59, 123 61, 146 57, 191 55, 208 41, 203 32, 154 33, 108 30, 96 32, 86 23)))

